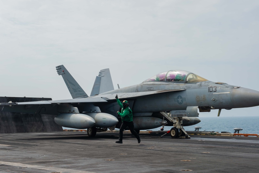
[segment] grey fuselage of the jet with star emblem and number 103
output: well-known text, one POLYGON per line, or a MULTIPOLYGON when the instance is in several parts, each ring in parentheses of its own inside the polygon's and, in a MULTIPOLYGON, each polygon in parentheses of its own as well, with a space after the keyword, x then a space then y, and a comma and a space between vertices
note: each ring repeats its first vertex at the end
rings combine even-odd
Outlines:
POLYGON ((245 108, 259 105, 259 91, 211 81, 197 83, 143 82, 105 92, 99 96, 105 97, 105 95, 111 94, 120 96, 120 93, 133 94, 134 92, 164 90, 176 91, 129 98, 129 101, 134 101, 133 112, 184 110, 188 106, 198 106, 200 111, 209 111, 211 109, 245 108))

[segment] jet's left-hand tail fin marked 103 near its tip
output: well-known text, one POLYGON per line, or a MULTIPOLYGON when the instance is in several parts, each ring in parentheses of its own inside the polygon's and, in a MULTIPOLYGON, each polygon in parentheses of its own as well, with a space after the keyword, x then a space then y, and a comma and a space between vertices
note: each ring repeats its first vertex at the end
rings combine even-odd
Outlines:
POLYGON ((88 95, 84 92, 81 86, 76 82, 76 80, 70 75, 64 65, 56 66, 57 74, 61 75, 67 85, 67 88, 72 96, 72 98, 85 98, 88 95))

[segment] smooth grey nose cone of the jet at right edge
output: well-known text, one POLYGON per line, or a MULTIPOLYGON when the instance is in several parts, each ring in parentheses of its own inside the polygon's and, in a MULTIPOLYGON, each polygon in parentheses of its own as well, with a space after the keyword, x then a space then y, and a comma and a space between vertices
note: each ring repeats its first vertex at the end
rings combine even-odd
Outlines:
POLYGON ((234 88, 232 102, 235 108, 259 106, 259 91, 248 88, 234 88))

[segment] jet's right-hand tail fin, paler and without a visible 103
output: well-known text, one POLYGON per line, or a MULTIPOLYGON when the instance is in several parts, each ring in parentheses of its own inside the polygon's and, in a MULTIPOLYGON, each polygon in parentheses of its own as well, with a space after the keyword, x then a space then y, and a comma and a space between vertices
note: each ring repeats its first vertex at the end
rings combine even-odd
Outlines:
POLYGON ((101 94, 103 92, 114 90, 110 69, 100 70, 99 75, 95 78, 93 89, 90 96, 101 94))

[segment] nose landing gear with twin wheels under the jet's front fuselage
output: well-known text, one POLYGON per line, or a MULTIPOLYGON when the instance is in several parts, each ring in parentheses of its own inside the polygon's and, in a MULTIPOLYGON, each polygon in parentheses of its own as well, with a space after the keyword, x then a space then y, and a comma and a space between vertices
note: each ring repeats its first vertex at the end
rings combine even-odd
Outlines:
POLYGON ((174 127, 170 130, 170 135, 172 138, 187 138, 190 139, 190 136, 187 134, 187 132, 184 130, 183 126, 183 118, 182 117, 176 117, 174 119, 174 127))

